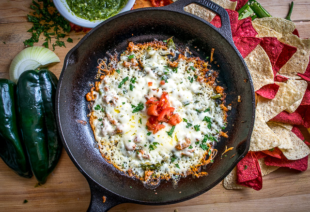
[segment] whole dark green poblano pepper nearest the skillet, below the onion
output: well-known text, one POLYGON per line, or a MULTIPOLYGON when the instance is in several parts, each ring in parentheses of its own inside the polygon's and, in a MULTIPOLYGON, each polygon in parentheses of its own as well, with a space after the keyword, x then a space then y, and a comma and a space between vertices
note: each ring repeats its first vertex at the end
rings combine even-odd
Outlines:
POLYGON ((22 135, 31 170, 40 184, 54 170, 62 152, 56 125, 57 77, 48 70, 23 72, 17 82, 22 135))

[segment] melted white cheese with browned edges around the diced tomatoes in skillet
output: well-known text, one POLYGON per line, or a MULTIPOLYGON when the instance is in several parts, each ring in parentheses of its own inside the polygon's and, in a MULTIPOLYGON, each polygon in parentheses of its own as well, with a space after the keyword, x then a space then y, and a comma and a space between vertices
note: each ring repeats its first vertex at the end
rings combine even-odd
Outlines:
POLYGON ((158 41, 129 43, 117 62, 116 57, 99 61, 104 74, 87 95, 93 101, 90 123, 100 153, 150 188, 162 179, 207 175, 200 168, 213 161, 213 146, 220 134, 226 135, 221 132, 225 94, 216 89, 217 72, 200 58, 187 57, 187 50, 174 48, 158 41), (146 101, 165 93, 171 114, 182 121, 175 126, 163 121, 164 128, 154 134, 146 127, 146 101))

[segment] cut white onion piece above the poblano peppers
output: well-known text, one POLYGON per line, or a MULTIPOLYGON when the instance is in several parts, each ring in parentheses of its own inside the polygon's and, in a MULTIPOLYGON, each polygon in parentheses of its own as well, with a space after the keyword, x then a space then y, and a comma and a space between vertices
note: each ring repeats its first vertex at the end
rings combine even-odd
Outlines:
POLYGON ((27 47, 12 60, 10 80, 17 83, 18 77, 22 72, 47 67, 49 64, 55 62, 60 62, 60 59, 51 50, 41 46, 27 47))

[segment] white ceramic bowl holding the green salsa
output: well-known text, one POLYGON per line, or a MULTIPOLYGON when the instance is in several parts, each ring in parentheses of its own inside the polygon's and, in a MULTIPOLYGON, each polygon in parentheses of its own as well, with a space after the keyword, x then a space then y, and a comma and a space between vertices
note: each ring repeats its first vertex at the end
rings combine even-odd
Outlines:
MULTIPOLYGON (((69 8, 67 2, 65 0, 53 0, 56 9, 62 16, 70 21, 73 24, 76 24, 81 27, 86 28, 94 28, 104 20, 96 20, 96 21, 89 21, 83 18, 80 18, 76 16, 69 8)), ((134 6, 135 0, 128 0, 127 4, 124 6, 124 8, 119 12, 123 13, 125 11, 130 10, 134 6)))

